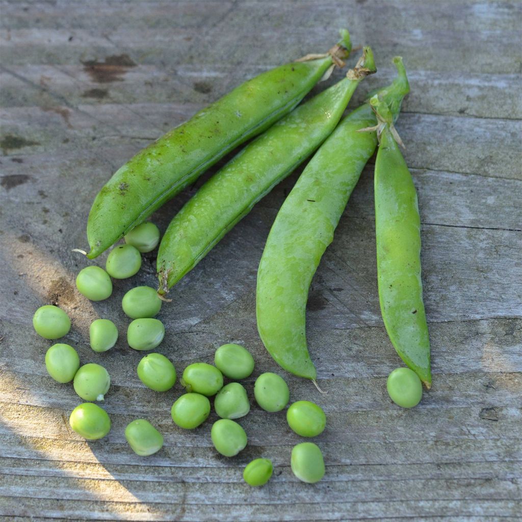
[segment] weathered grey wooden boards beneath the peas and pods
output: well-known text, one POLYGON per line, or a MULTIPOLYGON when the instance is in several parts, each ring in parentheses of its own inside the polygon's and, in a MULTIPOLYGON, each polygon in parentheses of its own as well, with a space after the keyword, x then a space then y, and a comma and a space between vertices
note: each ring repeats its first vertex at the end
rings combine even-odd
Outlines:
MULTIPOLYGON (((520 46, 513 2, 2 2, 2 326, 0 516, 13 520, 520 520, 522 461, 520 46), (404 56, 411 94, 398 131, 418 188, 433 388, 412 410, 386 395, 399 366, 379 313, 372 165, 342 217, 313 280, 307 315, 321 396, 269 358, 255 324, 256 268, 270 225, 296 175, 277 186, 172 291, 160 318, 160 351, 179 372, 243 343, 256 370, 280 371, 292 400, 326 410, 317 437, 327 473, 293 477, 300 437, 284 413, 255 404, 241 420, 249 444, 216 454, 210 418, 177 429, 178 385, 157 394, 126 346, 120 302, 155 286, 155 255, 108 301, 74 286, 87 265, 85 225, 94 195, 122 163, 235 85, 309 52, 324 52, 348 27, 373 46, 379 72, 354 96, 393 77, 404 56), (65 338, 82 362, 105 365, 103 407, 113 428, 86 443, 68 425, 80 402, 46 374, 51 342, 31 326, 38 306, 72 318, 65 338), (116 322, 108 353, 88 346, 96 317, 116 322), (125 425, 148 418, 165 437, 137 457, 125 425), (274 461, 263 488, 242 481, 255 457, 274 461)), ((354 63, 352 57, 350 63, 354 63)), ((337 72, 331 81, 340 78, 337 72)), ((323 86, 319 87, 322 89, 323 86)), ((315 89, 317 92, 318 89, 315 89)), ((196 187, 153 216, 162 230, 196 187)), ((105 256, 97 260, 104 263, 105 256)))

